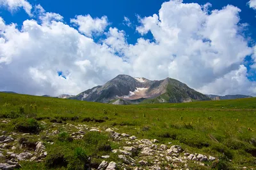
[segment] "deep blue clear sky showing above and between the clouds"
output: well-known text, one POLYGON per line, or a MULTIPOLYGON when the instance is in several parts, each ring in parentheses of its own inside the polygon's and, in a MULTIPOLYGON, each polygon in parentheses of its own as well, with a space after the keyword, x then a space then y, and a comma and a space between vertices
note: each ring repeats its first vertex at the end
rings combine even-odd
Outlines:
MULTIPOLYGON (((118 27, 118 29, 124 30, 127 35, 127 41, 129 43, 136 43, 137 38, 140 37, 138 32, 134 32, 134 27, 130 28, 123 24, 124 16, 128 17, 132 24, 138 24, 137 15, 141 17, 148 17, 153 13, 157 13, 161 8, 161 5, 166 2, 163 0, 129 0, 129 1, 116 1, 116 0, 93 0, 82 1, 74 0, 62 1, 62 0, 29 0, 29 3, 36 5, 41 4, 45 11, 51 11, 54 13, 60 13, 64 17, 65 22, 70 24, 70 18, 74 18, 76 15, 90 14, 92 17, 108 16, 109 22, 112 27, 118 27)), ((256 39, 256 22, 255 22, 255 10, 248 8, 248 4, 245 1, 239 0, 184 0, 183 3, 198 3, 204 5, 206 3, 212 4, 212 9, 221 9, 223 6, 232 4, 241 9, 239 14, 241 17, 241 23, 247 23, 248 31, 246 32, 254 43, 256 39)), ((25 11, 19 10, 10 13, 7 10, 1 10, 1 16, 5 19, 6 23, 17 23, 22 25, 22 22, 28 18, 28 14, 25 11)), ((148 36, 150 38, 150 35, 148 36)))

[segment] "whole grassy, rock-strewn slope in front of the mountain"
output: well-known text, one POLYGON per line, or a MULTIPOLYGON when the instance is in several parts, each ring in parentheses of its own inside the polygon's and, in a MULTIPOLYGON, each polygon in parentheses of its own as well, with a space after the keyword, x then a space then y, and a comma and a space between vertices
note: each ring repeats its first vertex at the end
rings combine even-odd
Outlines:
POLYGON ((22 169, 250 169, 255 103, 114 106, 0 93, 0 160, 22 169))

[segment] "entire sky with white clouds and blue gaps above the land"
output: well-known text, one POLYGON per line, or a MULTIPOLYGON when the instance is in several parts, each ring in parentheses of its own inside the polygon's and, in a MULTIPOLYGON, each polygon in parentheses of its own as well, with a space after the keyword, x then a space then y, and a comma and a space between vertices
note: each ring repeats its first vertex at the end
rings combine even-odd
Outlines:
POLYGON ((256 0, 0 0, 0 91, 79 94, 118 74, 256 96, 256 0))

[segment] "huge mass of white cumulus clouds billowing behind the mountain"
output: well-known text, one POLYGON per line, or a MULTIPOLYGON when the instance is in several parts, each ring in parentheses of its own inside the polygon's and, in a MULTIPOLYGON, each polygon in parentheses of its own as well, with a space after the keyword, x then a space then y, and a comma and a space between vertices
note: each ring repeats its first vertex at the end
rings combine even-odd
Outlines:
POLYGON ((138 17, 141 36, 132 45, 125 31, 108 27, 108 17, 79 15, 74 25, 37 6, 41 22, 22 29, 0 18, 0 90, 26 94, 77 94, 117 74, 151 80, 176 78, 205 94, 256 95, 244 58, 253 48, 243 37, 239 8, 209 11, 210 4, 163 3, 159 13, 138 17), (104 34, 97 43, 94 35, 104 34), (15 49, 15 50, 12 50, 15 49), (58 71, 63 76, 58 75, 58 71))

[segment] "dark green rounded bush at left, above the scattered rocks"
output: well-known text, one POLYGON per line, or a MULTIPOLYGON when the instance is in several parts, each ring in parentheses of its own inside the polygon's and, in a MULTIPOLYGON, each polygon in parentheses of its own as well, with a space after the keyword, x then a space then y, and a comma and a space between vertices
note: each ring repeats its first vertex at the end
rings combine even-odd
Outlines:
POLYGON ((13 122, 15 131, 38 134, 42 127, 34 118, 19 118, 13 122))

